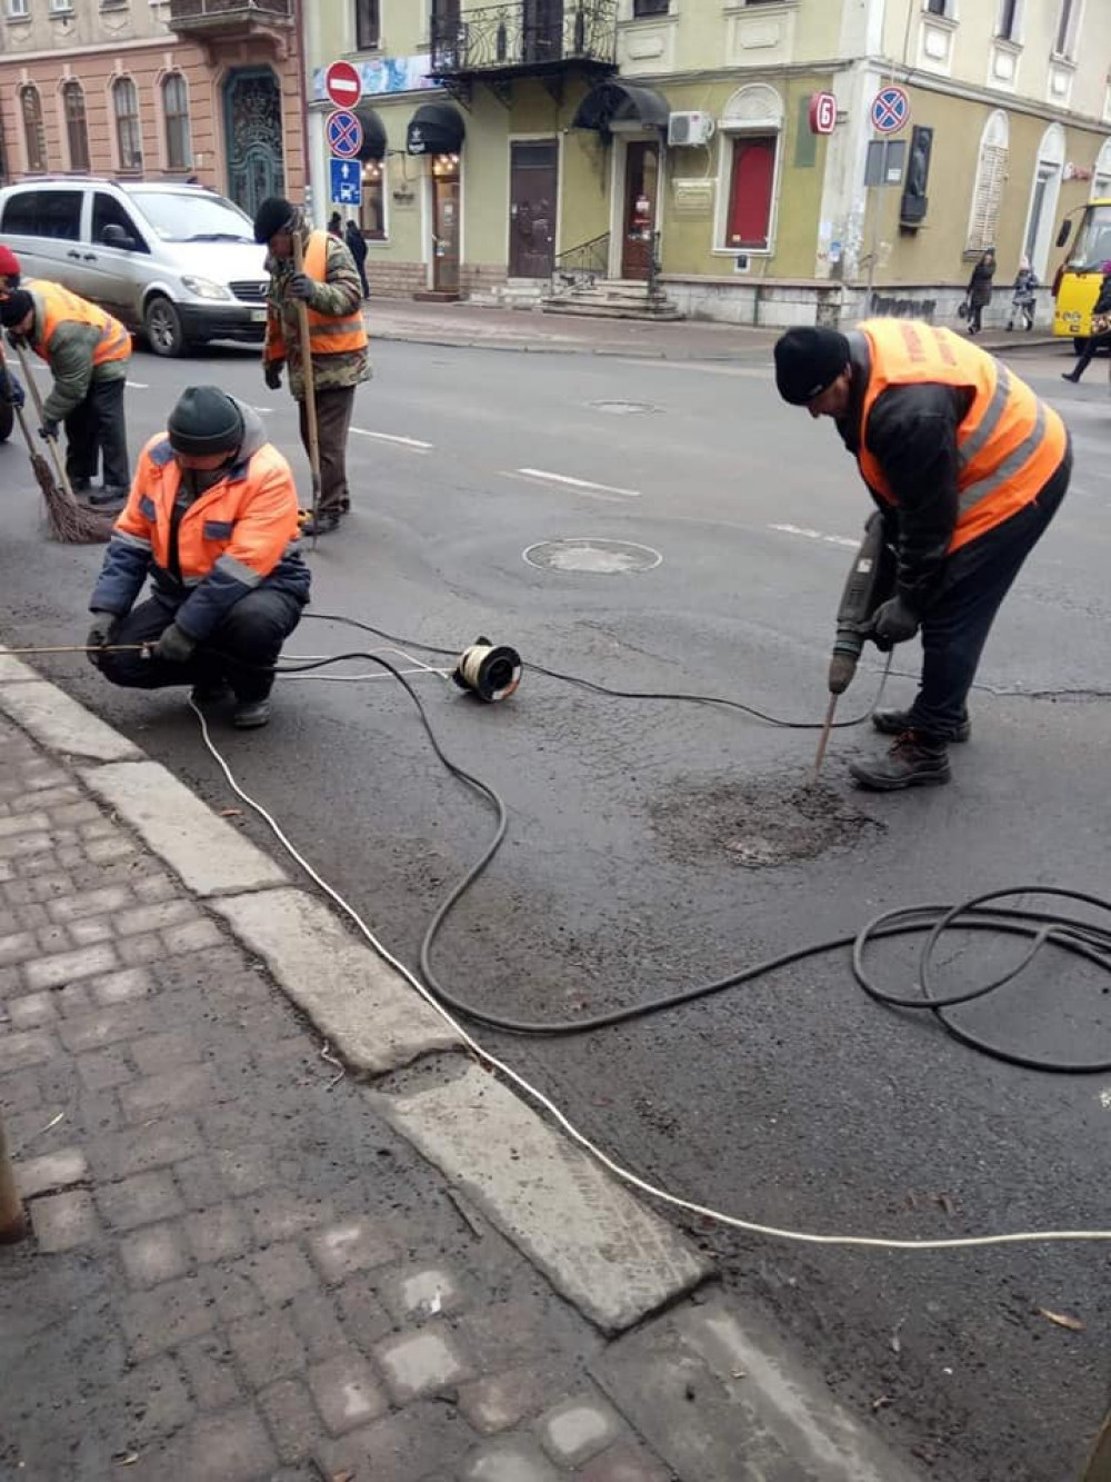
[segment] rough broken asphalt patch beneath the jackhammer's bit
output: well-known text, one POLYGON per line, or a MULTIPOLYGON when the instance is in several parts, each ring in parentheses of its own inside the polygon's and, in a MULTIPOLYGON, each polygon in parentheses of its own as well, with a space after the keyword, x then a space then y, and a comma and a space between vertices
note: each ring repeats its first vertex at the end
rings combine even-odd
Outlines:
POLYGON ((652 824, 680 864, 724 855, 745 870, 815 860, 886 828, 835 788, 797 775, 674 788, 653 806, 652 824))

